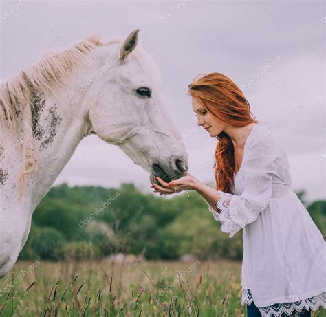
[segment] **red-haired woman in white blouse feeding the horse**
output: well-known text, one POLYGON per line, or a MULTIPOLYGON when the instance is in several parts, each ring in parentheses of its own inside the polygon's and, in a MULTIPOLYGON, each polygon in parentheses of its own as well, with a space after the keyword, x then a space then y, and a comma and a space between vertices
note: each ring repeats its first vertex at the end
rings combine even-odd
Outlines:
POLYGON ((243 228, 242 300, 247 315, 311 316, 326 308, 325 241, 291 187, 287 155, 227 76, 210 73, 189 85, 198 125, 215 137, 215 182, 192 175, 155 192, 193 189, 204 197, 221 231, 243 228))

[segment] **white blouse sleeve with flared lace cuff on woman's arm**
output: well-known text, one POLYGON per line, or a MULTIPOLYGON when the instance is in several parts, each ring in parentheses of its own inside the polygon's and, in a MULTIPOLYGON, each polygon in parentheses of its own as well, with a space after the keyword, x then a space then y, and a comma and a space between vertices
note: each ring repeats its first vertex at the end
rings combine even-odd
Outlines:
MULTIPOLYGON (((276 175, 276 160, 279 157, 272 142, 267 138, 254 140, 243 156, 240 170, 243 174, 243 192, 232 195, 217 190, 217 212, 209 206, 215 220, 221 222, 221 231, 232 238, 241 228, 254 222, 272 197, 272 175, 276 175)), ((239 172, 238 172, 239 173, 239 172)))

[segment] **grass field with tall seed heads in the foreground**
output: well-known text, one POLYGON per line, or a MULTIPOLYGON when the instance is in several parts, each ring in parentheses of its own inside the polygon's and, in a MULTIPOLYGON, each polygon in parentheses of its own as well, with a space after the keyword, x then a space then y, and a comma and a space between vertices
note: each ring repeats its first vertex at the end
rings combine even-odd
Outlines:
POLYGON ((245 317, 240 274, 241 262, 224 260, 20 261, 0 281, 1 316, 245 317))

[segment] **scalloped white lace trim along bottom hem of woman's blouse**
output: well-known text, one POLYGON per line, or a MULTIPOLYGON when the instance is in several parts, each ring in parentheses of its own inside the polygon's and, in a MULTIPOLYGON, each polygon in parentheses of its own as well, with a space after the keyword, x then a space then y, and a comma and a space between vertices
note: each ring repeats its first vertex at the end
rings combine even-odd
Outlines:
MULTIPOLYGON (((241 306, 243 306, 244 303, 250 305, 252 301, 253 298, 250 290, 243 289, 241 306)), ((274 305, 257 308, 259 309, 262 317, 279 317, 283 313, 290 316, 291 314, 293 314, 294 310, 298 311, 299 313, 302 313, 303 311, 305 311, 305 309, 317 310, 320 306, 326 308, 326 292, 322 292, 316 296, 312 296, 304 300, 298 300, 297 302, 277 303, 274 305)), ((296 316, 296 314, 294 314, 294 316, 296 316)))

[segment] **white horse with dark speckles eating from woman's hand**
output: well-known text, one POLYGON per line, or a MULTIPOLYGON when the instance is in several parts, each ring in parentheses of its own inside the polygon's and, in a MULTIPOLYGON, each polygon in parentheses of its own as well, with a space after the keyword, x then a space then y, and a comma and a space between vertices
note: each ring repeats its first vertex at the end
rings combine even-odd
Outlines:
POLYGON ((150 172, 150 182, 186 175, 186 149, 138 31, 107 43, 86 36, 1 84, 0 278, 17 261, 34 209, 85 136, 120 146, 150 172))

